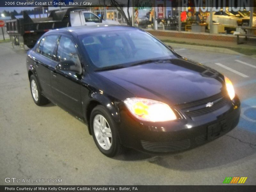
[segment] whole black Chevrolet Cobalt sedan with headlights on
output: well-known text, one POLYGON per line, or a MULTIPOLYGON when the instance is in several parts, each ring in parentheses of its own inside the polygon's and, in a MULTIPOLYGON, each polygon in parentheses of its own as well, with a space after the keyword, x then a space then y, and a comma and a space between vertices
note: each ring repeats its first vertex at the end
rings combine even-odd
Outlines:
POLYGON ((45 33, 28 51, 33 100, 88 124, 106 156, 122 147, 166 153, 232 130, 240 101, 219 72, 138 28, 83 26, 45 33))

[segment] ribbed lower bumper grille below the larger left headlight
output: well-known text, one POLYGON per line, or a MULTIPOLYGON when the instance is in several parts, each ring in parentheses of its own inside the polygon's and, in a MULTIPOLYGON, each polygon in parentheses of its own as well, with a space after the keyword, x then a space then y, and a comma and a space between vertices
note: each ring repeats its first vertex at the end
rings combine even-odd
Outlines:
POLYGON ((148 151, 159 151, 159 152, 172 152, 184 150, 190 147, 190 140, 182 140, 170 143, 153 143, 148 141, 141 141, 142 147, 148 151))

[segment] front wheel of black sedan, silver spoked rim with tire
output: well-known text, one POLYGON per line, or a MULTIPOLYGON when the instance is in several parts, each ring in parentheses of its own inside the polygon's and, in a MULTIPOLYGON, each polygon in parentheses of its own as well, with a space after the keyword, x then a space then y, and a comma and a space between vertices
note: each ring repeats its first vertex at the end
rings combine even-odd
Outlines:
POLYGON ((98 105, 92 110, 90 125, 93 140, 101 153, 108 157, 121 153, 116 123, 103 106, 98 105))

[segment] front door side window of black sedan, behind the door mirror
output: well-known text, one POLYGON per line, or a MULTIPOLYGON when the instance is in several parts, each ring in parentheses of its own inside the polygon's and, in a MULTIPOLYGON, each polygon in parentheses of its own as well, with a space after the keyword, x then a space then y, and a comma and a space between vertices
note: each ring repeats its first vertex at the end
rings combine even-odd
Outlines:
POLYGON ((72 60, 76 64, 80 65, 80 60, 76 52, 75 44, 72 42, 70 38, 65 36, 60 37, 60 42, 57 51, 57 60, 72 60))

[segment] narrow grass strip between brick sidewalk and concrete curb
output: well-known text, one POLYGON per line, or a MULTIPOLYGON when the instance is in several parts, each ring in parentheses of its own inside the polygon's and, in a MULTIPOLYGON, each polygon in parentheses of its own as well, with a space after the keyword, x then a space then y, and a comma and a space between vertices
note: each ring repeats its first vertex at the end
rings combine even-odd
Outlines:
POLYGON ((173 41, 169 39, 161 40, 166 43, 177 43, 177 44, 187 44, 187 45, 199 45, 199 46, 206 46, 206 47, 220 47, 220 48, 226 48, 230 49, 239 53, 242 53, 244 55, 255 55, 256 49, 246 49, 246 48, 239 48, 239 47, 225 47, 225 46, 218 46, 218 45, 209 45, 209 44, 198 44, 198 43, 190 43, 185 41, 173 41))

